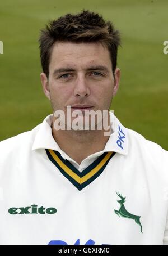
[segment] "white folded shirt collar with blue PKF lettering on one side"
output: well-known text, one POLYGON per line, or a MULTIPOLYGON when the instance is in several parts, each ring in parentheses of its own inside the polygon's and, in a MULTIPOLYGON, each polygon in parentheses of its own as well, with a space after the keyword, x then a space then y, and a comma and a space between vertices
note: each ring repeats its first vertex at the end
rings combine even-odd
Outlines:
MULTIPOLYGON (((50 114, 46 116, 43 123, 40 124, 39 130, 35 135, 35 140, 32 145, 32 150, 36 149, 52 149, 55 151, 59 151, 60 154, 65 157, 67 156, 65 152, 63 152, 58 146, 57 142, 54 140, 52 135, 52 116, 50 114)), ((96 152, 92 155, 98 156, 102 154, 102 152, 118 152, 122 155, 128 154, 128 134, 127 128, 125 128, 116 116, 110 111, 110 125, 111 125, 111 134, 108 142, 106 143, 104 150, 100 152, 96 152)))

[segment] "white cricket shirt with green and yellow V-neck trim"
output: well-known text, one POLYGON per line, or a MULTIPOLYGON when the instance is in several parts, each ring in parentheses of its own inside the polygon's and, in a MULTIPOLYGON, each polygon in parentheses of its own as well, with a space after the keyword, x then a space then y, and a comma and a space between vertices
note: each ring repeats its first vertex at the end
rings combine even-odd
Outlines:
POLYGON ((167 244, 168 152, 110 113, 104 150, 79 165, 51 117, 0 142, 0 244, 167 244))

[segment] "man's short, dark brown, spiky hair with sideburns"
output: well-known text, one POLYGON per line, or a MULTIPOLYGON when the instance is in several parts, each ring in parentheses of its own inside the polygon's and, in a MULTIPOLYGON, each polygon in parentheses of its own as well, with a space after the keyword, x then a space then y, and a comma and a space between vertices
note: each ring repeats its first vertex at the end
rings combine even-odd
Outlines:
POLYGON ((79 14, 66 14, 57 20, 49 21, 41 29, 39 38, 41 66, 49 77, 49 63, 55 42, 100 42, 108 47, 113 74, 116 69, 117 50, 120 45, 120 33, 114 29, 111 21, 105 21, 96 12, 83 10, 79 14))

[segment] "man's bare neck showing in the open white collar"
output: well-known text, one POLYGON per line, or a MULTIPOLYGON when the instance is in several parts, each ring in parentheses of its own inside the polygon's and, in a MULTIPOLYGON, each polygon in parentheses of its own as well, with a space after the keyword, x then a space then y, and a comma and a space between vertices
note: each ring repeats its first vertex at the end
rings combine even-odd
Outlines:
MULTIPOLYGON (((55 118, 53 117, 52 124, 54 120, 55 118)), ((108 115, 109 126, 110 116, 108 115)), ((81 164, 82 160, 87 158, 87 156, 104 150, 106 142, 109 140, 109 136, 104 136, 104 132, 107 132, 107 130, 55 130, 54 125, 52 125, 54 140, 58 143, 60 149, 66 152, 78 164, 81 164)))

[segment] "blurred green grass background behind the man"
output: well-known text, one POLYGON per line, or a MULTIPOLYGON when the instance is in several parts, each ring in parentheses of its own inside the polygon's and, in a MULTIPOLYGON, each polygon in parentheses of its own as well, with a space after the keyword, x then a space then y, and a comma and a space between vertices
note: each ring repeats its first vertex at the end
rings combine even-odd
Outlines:
POLYGON ((40 83, 39 30, 82 8, 100 12, 122 33, 122 79, 111 109, 123 125, 168 150, 167 0, 1 1, 0 140, 34 128, 52 113, 40 83))

